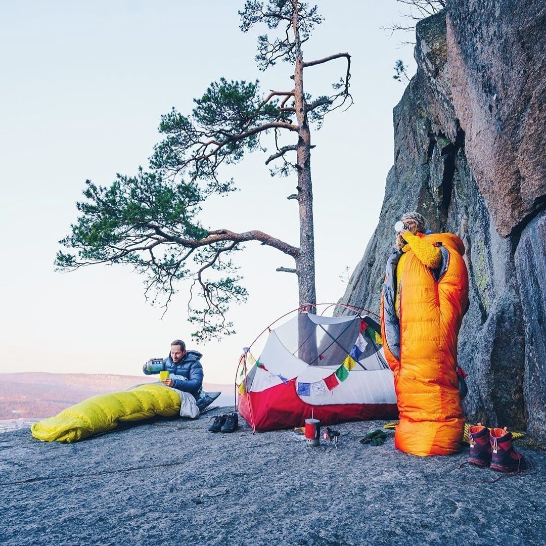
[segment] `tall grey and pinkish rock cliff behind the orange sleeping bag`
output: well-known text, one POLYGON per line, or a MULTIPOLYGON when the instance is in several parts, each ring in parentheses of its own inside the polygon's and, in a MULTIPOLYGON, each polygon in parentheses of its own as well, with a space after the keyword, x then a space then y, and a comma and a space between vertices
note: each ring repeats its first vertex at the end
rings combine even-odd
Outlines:
POLYGON ((342 301, 378 312, 393 225, 417 210, 466 246, 470 421, 546 440, 546 7, 455 0, 417 25, 379 223, 342 301))

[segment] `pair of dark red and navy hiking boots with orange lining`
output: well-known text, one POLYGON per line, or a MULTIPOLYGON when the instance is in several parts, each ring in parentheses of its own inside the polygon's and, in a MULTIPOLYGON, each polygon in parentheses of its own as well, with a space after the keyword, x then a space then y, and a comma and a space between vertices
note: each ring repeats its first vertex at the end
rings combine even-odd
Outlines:
POLYGON ((470 456, 468 462, 477 466, 490 466, 498 472, 519 472, 527 468, 525 458, 512 446, 512 432, 508 429, 491 429, 481 423, 468 428, 470 456))

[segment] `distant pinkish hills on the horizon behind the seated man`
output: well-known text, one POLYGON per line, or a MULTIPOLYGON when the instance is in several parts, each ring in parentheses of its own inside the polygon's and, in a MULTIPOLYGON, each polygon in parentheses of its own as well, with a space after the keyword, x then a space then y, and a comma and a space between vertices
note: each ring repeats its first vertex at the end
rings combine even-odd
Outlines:
MULTIPOLYGON (((50 417, 90 396, 126 390, 157 376, 124 376, 90 373, 0 373, 0 419, 50 417)), ((233 385, 205 383, 205 390, 219 390, 216 405, 234 404, 233 385)))

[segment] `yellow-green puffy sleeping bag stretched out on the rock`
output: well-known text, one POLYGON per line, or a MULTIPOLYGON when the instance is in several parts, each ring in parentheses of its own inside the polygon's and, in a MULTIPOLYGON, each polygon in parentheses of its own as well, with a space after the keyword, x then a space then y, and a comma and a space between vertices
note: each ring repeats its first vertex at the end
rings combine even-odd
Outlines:
POLYGON ((46 442, 78 442, 114 430, 118 422, 180 412, 180 395, 164 385, 139 385, 121 393, 99 394, 32 425, 32 436, 46 442))

